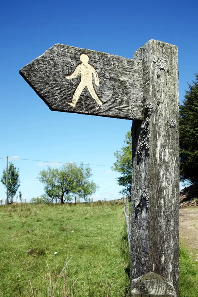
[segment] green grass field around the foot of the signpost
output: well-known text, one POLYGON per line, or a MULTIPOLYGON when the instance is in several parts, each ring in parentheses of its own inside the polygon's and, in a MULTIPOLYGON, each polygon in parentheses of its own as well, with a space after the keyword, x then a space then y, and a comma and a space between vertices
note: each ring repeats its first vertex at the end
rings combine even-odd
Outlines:
MULTIPOLYGON (((127 272, 122 205, 0 207, 0 297, 123 297, 127 272)), ((180 297, 196 296, 198 268, 181 247, 180 297)))

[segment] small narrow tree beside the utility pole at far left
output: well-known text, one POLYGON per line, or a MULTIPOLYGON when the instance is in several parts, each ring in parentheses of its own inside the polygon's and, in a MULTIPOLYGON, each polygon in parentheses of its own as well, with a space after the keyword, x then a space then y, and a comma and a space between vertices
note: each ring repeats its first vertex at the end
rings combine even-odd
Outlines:
MULTIPOLYGON (((1 182, 5 188, 7 188, 7 169, 3 169, 3 175, 1 182)), ((13 163, 9 163, 8 166, 8 199, 9 203, 13 203, 14 196, 18 188, 20 187, 19 169, 14 167, 13 163)))

